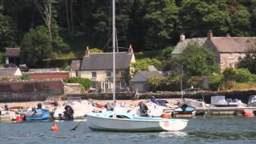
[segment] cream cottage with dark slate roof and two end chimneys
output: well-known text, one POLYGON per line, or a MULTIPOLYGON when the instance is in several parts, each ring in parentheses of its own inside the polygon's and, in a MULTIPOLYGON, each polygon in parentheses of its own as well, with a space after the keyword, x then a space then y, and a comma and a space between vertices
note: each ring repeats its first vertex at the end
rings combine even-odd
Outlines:
MULTIPOLYGON (((129 47, 128 52, 115 53, 115 61, 116 91, 127 90, 130 78, 130 64, 135 62, 132 47, 129 47)), ((87 47, 82 61, 72 61, 71 75, 89 78, 93 82, 91 90, 101 93, 112 92, 113 53, 90 54, 90 50, 87 47)))

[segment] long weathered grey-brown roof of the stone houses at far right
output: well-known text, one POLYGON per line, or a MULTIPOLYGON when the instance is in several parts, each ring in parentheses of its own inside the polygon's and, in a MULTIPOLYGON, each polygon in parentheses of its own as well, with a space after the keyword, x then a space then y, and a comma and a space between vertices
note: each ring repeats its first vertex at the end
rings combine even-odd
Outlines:
POLYGON ((199 46, 213 45, 222 53, 244 53, 250 46, 256 45, 256 37, 213 37, 210 41, 207 38, 188 38, 178 42, 172 54, 181 54, 190 42, 196 42, 199 46))

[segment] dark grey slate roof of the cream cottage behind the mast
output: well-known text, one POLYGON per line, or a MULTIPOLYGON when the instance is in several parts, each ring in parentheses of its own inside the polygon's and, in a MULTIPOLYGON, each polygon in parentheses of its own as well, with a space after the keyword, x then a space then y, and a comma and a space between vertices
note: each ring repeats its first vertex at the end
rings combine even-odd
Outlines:
MULTIPOLYGON (((115 68, 117 70, 127 69, 130 66, 133 54, 127 52, 115 53, 115 68)), ((89 57, 84 56, 80 70, 112 70, 113 69, 113 53, 90 54, 89 57)))

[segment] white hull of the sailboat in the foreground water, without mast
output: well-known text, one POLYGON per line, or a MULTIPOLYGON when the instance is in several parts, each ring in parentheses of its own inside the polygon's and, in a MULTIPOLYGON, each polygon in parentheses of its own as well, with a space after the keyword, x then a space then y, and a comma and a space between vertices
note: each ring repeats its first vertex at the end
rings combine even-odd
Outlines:
POLYGON ((103 118, 101 114, 88 114, 87 123, 92 130, 110 131, 177 131, 187 125, 185 119, 164 118, 103 118))

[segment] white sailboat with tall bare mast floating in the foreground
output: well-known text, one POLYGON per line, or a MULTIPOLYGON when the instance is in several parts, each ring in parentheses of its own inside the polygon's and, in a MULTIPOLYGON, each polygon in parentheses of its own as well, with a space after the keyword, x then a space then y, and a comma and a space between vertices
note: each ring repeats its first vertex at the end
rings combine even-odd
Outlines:
MULTIPOLYGON (((113 101, 115 105, 115 1, 112 0, 113 36, 113 101)), ((127 112, 106 111, 87 114, 87 124, 92 130, 110 131, 176 131, 186 127, 186 119, 141 117, 127 112)))

